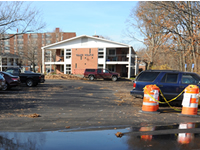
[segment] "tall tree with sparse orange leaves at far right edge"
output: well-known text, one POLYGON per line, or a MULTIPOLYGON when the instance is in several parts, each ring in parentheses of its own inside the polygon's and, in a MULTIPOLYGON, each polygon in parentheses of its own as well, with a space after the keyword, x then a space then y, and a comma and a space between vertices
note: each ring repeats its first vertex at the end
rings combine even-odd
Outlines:
POLYGON ((200 44, 200 2, 199 1, 169 1, 150 2, 160 13, 160 22, 152 24, 159 26, 165 34, 173 35, 173 50, 179 51, 180 67, 188 63, 194 64, 197 71, 200 44))

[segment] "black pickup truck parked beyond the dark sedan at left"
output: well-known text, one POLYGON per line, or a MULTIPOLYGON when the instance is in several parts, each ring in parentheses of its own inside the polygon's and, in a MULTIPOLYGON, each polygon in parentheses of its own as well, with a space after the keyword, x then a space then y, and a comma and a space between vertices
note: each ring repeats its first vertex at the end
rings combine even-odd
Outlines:
POLYGON ((8 68, 6 72, 14 75, 19 76, 21 83, 25 83, 27 86, 37 86, 38 83, 45 82, 44 74, 40 73, 23 73, 20 68, 8 68))

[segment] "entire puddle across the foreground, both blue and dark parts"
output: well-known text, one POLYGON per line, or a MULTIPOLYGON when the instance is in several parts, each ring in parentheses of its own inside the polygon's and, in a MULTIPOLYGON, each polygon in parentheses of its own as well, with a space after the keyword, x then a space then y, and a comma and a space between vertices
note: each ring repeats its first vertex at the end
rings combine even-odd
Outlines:
POLYGON ((200 149, 200 124, 48 132, 0 132, 0 149, 141 150, 200 149), (121 132, 121 138, 116 133, 121 132))

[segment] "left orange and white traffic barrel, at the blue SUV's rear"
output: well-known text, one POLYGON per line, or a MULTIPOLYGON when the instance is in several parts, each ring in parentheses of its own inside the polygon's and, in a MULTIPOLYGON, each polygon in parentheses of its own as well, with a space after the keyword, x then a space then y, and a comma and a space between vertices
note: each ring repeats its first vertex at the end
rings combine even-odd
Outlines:
POLYGON ((141 112, 158 113, 159 109, 159 87, 146 85, 144 87, 144 98, 141 112))

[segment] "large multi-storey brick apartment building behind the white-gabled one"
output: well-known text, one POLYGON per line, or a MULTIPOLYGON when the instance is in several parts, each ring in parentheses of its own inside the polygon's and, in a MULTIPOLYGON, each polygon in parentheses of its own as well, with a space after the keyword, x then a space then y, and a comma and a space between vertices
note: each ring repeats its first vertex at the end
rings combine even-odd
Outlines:
MULTIPOLYGON (((3 36, 10 37, 11 35, 3 36)), ((2 54, 0 56, 0 70, 5 70, 7 67, 19 67, 19 65, 30 68, 32 64, 26 58, 29 57, 30 50, 33 49, 36 71, 40 72, 42 65, 41 47, 72 37, 76 37, 75 32, 62 32, 56 28, 54 32, 21 34, 8 40, 2 40, 0 41, 0 54, 2 54)))

